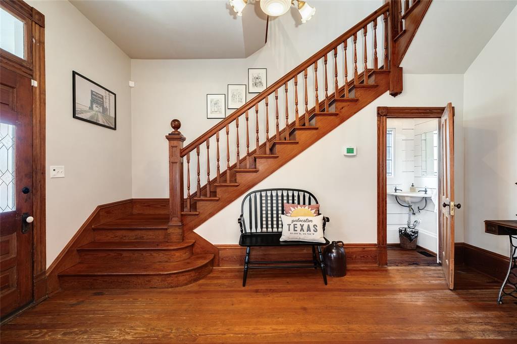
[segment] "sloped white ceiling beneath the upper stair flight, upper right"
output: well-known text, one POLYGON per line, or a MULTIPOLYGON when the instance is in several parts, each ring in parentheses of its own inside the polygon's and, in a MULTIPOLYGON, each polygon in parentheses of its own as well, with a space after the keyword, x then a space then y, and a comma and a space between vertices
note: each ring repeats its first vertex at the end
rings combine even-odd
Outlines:
POLYGON ((404 72, 463 74, 515 4, 515 0, 434 0, 404 56, 404 72))

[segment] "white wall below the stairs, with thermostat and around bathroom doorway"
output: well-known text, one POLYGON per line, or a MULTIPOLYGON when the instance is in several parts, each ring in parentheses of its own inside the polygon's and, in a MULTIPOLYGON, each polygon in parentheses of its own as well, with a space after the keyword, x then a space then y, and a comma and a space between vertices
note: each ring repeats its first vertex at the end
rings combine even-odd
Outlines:
MULTIPOLYGON (((456 152, 463 154, 463 75, 404 75, 404 92, 392 98, 385 95, 299 154, 254 189, 294 187, 314 193, 321 211, 330 217, 329 240, 348 243, 376 242, 376 107, 377 106, 455 106, 456 152), (429 92, 432 89, 433 92, 429 92), (356 157, 344 157, 346 145, 357 146, 356 157), (300 168, 303 166, 303 168, 300 168)), ((463 160, 456 159, 455 170, 463 174, 463 160)), ((462 198, 463 184, 456 183, 455 192, 462 198)), ((239 240, 237 217, 241 199, 237 199, 196 232, 214 244, 236 244, 239 240)), ((462 215, 456 218, 456 239, 463 241, 462 215)))

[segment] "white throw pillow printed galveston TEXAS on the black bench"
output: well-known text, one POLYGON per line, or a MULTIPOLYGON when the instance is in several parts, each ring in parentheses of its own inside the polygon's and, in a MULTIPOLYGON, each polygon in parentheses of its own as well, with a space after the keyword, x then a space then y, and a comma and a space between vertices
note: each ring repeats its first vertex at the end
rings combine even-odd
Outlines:
POLYGON ((282 217, 282 236, 280 241, 309 241, 324 243, 323 215, 282 217))

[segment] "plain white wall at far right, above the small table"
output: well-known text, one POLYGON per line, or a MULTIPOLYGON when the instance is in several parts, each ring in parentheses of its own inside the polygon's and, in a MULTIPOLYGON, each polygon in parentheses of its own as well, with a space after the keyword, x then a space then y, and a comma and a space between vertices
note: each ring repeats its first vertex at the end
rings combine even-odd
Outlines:
POLYGON ((484 220, 517 213, 517 8, 464 76, 465 242, 508 255, 508 238, 484 220))

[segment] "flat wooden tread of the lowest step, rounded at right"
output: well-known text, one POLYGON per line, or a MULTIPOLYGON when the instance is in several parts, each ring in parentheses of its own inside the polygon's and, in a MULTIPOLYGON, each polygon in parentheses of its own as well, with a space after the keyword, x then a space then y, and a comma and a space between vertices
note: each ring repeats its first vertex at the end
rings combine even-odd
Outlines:
POLYGON ((206 254, 171 263, 77 263, 59 276, 168 275, 199 268, 213 258, 214 255, 206 254))

